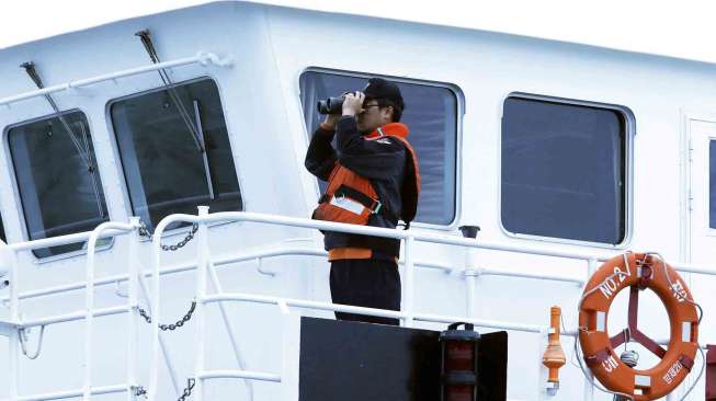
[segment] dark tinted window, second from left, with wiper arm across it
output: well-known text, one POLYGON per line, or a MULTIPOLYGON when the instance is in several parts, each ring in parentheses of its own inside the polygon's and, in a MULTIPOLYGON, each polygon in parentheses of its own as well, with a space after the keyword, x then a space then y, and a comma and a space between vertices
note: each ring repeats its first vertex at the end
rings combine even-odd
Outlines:
POLYGON ((151 229, 171 214, 195 215, 200 205, 242 210, 214 81, 121 100, 111 114, 134 214, 151 229))

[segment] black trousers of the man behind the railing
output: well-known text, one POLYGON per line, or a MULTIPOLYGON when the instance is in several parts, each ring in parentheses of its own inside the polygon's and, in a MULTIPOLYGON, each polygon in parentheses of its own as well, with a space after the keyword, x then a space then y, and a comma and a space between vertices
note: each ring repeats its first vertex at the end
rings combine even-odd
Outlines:
MULTIPOLYGON (((331 262, 333 303, 400 310, 400 273, 395 262, 346 259, 331 262)), ((336 312, 338 320, 399 325, 399 319, 336 312)))

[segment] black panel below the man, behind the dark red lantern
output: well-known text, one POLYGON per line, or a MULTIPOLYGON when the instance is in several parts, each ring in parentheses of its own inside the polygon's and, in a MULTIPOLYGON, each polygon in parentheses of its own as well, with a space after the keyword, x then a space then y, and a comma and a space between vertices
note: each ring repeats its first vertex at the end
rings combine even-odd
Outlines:
MULTIPOLYGON (((302 318, 299 401, 436 401, 440 332, 302 318)), ((480 401, 504 400, 507 333, 480 340, 480 401), (486 378, 486 380, 482 380, 486 378)))

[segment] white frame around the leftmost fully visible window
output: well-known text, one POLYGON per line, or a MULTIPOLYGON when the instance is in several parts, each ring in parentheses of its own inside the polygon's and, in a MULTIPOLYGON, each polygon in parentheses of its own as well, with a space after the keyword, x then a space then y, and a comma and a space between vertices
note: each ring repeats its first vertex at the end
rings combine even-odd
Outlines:
MULTIPOLYGON (((18 183, 18 173, 15 171, 15 163, 13 162, 12 151, 10 149, 10 130, 13 129, 13 128, 23 126, 23 125, 37 123, 37 122, 43 121, 43 119, 54 118, 57 115, 71 114, 71 113, 76 113, 76 112, 82 113, 82 116, 84 117, 84 121, 87 122, 87 127, 90 130, 90 139, 91 139, 91 144, 92 144, 92 150, 94 152, 94 160, 96 162, 96 165, 95 165, 96 173, 100 175, 100 177, 102 177, 102 168, 100 167, 102 163, 100 162, 100 159, 98 158, 98 153, 96 153, 96 150, 98 150, 98 142, 96 142, 96 137, 95 137, 96 131, 93 129, 93 124, 92 124, 92 119, 90 118, 90 114, 82 107, 76 106, 76 107, 72 107, 72 108, 62 110, 59 113, 49 113, 49 114, 45 114, 45 115, 42 115, 42 116, 38 116, 38 117, 23 119, 23 121, 7 125, 2 130, 3 147, 4 147, 5 154, 8 156, 7 159, 5 159, 5 167, 8 168, 8 173, 11 175, 11 183, 12 183, 12 187, 13 187, 13 199, 15 202, 15 205, 18 205, 16 207, 20 209, 19 210, 20 213, 18 214, 18 217, 20 219, 20 226, 21 226, 21 233, 22 233, 22 241, 23 242, 31 242, 31 241, 36 241, 36 240, 31 240, 30 239, 30 230, 27 228, 27 219, 25 217, 25 207, 24 207, 24 205, 22 203, 22 197, 20 196, 20 184, 18 183)), ((105 206, 107 208, 107 210, 106 210, 107 211, 107 221, 112 221, 112 218, 113 218, 112 207, 110 206, 110 200, 107 199, 107 192, 106 192, 106 186, 105 186, 105 181, 104 180, 102 180, 102 193, 104 194, 104 204, 105 204, 105 206)), ((5 227, 5 237, 7 237, 8 236, 8 229, 7 229, 8 221, 3 220, 3 225, 5 227)), ((80 232, 84 232, 84 231, 80 231, 80 232)), ((49 238, 55 238, 55 237, 49 237, 49 238)), ((87 241, 84 241, 84 242, 87 242, 87 241)), ((112 249, 113 245, 114 245, 114 238, 111 238, 110 241, 106 244, 98 245, 95 248, 95 252, 107 251, 107 250, 112 249)), ((82 255, 87 254, 87 249, 79 249, 77 251, 60 253, 60 254, 52 255, 52 256, 47 256, 47 257, 38 257, 35 254, 35 252, 33 252, 33 251, 31 251, 29 253, 32 255, 32 257, 34 260, 34 263, 44 264, 44 263, 50 263, 50 262, 61 261, 61 260, 66 260, 66 259, 82 256, 82 255)))

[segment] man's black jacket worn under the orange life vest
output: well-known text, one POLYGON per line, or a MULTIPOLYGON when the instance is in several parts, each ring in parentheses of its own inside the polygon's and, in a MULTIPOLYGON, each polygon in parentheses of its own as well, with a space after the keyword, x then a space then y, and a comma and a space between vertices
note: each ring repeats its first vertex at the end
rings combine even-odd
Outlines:
MULTIPOLYGON (((355 118, 342 117, 336 133, 316 129, 306 153, 306 169, 320 180, 328 181, 338 160, 343 167, 371 181, 383 207, 393 216, 400 216, 402 202, 400 187, 405 179, 407 150, 401 141, 385 137, 380 140, 365 140, 357 130, 355 118), (337 149, 331 141, 337 136, 337 149)), ((380 214, 371 215, 368 226, 395 228, 396 226, 380 214)), ((382 254, 397 256, 400 241, 382 237, 349 234, 326 231, 326 250, 354 247, 379 251, 382 254)))

